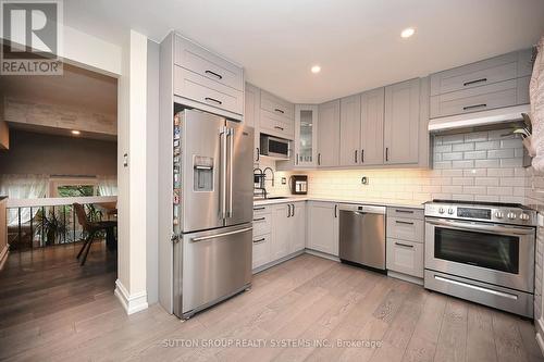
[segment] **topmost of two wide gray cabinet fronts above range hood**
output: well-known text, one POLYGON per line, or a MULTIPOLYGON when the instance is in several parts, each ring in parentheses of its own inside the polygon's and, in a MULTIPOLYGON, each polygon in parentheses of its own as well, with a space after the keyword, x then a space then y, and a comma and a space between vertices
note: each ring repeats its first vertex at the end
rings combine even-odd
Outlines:
POLYGON ((431 75, 431 96, 531 75, 531 49, 431 75))

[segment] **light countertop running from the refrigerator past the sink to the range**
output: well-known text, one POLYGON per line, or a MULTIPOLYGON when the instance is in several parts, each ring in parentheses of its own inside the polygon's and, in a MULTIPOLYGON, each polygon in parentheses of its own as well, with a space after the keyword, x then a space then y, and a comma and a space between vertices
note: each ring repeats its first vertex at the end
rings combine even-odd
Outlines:
POLYGON ((420 201, 410 200, 391 200, 391 199, 361 199, 361 198, 325 198, 312 196, 288 196, 285 199, 263 200, 257 199, 254 201, 255 205, 277 204, 285 202, 296 201, 325 201, 325 202, 339 202, 339 203, 364 203, 370 205, 392 207, 392 208, 410 208, 410 209, 424 209, 424 204, 420 201))

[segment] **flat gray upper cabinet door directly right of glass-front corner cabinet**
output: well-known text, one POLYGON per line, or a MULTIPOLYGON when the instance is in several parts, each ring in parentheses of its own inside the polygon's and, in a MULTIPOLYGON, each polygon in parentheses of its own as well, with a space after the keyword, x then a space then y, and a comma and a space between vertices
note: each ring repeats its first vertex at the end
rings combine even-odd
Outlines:
POLYGON ((339 100, 322 103, 318 109, 318 166, 339 164, 339 100))

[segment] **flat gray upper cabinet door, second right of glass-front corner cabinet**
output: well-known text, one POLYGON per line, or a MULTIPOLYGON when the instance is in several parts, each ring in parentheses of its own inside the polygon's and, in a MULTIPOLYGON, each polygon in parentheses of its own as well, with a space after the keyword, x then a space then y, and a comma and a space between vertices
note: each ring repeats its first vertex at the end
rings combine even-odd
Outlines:
POLYGON ((341 99, 339 165, 355 166, 360 161, 361 96, 341 99))

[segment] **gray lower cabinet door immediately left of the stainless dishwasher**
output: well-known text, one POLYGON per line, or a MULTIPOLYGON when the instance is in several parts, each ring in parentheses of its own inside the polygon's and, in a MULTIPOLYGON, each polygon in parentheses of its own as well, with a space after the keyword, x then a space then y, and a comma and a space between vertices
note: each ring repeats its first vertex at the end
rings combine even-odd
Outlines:
POLYGON ((338 257, 338 204, 308 202, 308 249, 338 257))

